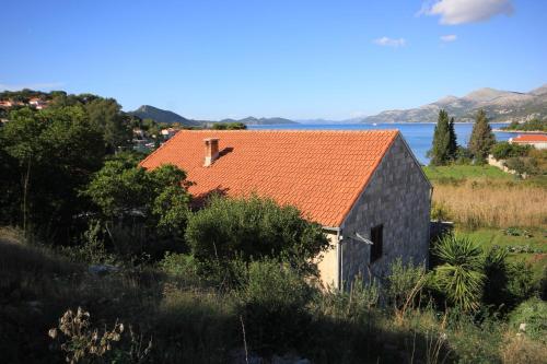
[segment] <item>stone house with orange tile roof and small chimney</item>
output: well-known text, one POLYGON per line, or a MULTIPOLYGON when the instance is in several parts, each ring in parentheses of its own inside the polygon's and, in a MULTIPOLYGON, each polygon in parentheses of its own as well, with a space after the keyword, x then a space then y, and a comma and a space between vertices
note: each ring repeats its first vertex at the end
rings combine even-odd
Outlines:
POLYGON ((397 130, 183 130, 141 165, 175 164, 197 199, 257 193, 323 225, 324 284, 428 263, 432 187, 397 130))

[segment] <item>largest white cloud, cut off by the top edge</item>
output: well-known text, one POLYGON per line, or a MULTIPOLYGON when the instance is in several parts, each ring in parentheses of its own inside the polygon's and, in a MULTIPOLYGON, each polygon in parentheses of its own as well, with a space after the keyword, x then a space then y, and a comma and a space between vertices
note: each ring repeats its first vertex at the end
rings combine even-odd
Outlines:
POLYGON ((440 0, 424 3, 418 14, 440 15, 441 24, 456 25, 489 20, 498 14, 511 15, 511 0, 440 0))

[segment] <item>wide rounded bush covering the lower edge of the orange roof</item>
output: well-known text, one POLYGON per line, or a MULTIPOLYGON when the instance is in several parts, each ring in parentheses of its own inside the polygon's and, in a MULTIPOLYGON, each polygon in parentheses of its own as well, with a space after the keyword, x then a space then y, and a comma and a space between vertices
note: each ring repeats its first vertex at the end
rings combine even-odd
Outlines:
POLYGON ((186 242, 200 261, 282 257, 310 273, 315 272, 312 259, 328 247, 319 224, 293 207, 256 196, 213 197, 189 216, 186 242))

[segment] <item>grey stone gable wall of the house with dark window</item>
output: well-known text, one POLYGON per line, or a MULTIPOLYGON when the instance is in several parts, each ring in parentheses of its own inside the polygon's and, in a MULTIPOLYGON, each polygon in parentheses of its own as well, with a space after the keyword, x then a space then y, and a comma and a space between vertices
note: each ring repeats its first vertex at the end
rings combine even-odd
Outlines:
POLYGON ((399 136, 342 223, 340 271, 345 286, 357 274, 365 279, 385 275, 397 257, 427 265, 430 208, 431 185, 399 136), (354 233, 370 239, 371 228, 380 224, 383 254, 371 263, 371 245, 354 238, 354 233))

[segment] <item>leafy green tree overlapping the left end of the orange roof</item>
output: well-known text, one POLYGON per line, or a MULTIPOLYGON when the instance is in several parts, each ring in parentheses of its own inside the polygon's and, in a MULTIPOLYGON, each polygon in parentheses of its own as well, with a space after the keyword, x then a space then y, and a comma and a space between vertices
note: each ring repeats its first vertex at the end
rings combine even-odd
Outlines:
POLYGON ((105 162, 82 195, 100 212, 116 250, 124 255, 182 250, 190 196, 186 174, 173 165, 151 172, 135 157, 105 162), (164 245, 164 246, 162 246, 164 245))

